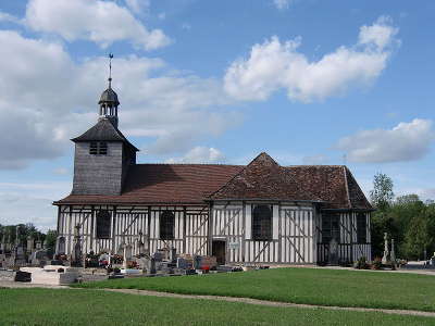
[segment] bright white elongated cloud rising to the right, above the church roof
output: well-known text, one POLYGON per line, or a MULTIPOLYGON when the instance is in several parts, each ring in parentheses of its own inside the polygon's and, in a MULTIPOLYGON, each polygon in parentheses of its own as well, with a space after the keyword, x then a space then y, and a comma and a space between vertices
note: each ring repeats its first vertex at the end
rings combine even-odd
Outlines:
POLYGON ((298 52, 300 37, 282 42, 273 36, 254 45, 248 59, 231 64, 224 78, 225 90, 239 100, 265 100, 282 88, 290 99, 302 102, 341 95, 380 76, 398 42, 397 33, 388 17, 380 17, 360 28, 355 46, 341 46, 311 62, 298 52))

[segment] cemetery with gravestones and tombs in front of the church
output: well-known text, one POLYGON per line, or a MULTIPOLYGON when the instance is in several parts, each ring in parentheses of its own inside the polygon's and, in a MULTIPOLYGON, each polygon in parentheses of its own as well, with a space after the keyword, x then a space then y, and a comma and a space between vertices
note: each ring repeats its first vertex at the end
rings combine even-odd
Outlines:
MULTIPOLYGON (((18 233, 18 228, 16 228, 18 233)), ((41 285, 73 283, 137 276, 179 276, 207 273, 238 272, 238 266, 217 265, 215 256, 177 254, 176 248, 164 247, 149 254, 144 243, 139 254, 133 255, 132 246, 122 246, 117 254, 107 251, 84 254, 79 228, 76 228, 74 251, 50 254, 47 243, 27 239, 21 243, 3 236, 0 247, 0 280, 32 281, 41 285)))

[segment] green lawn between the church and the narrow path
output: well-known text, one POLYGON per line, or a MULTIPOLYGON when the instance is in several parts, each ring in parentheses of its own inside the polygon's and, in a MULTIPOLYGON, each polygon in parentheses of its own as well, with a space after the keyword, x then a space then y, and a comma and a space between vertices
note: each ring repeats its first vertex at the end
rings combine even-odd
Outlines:
POLYGON ((198 276, 111 279, 79 286, 247 297, 319 305, 435 311, 435 276, 387 272, 276 268, 198 276))

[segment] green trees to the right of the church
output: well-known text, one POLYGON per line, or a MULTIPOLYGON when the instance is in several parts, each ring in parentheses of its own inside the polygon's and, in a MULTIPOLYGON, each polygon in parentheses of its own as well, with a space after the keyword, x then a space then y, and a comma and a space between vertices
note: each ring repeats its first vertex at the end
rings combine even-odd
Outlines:
POLYGON ((407 260, 425 260, 435 251, 435 202, 423 202, 418 195, 395 197, 390 177, 378 173, 370 192, 372 205, 372 251, 382 258, 384 233, 395 239, 397 256, 407 260))

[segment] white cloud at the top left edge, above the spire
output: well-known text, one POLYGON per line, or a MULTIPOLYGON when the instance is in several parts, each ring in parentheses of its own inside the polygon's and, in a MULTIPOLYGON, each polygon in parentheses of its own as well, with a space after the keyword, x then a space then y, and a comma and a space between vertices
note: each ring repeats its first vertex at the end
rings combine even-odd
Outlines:
MULTIPOLYGON (((129 4, 140 10, 136 2, 129 4)), ((37 32, 59 34, 69 41, 91 40, 103 48, 121 40, 146 50, 170 43, 162 30, 147 29, 128 9, 112 1, 30 0, 25 23, 37 32)))

